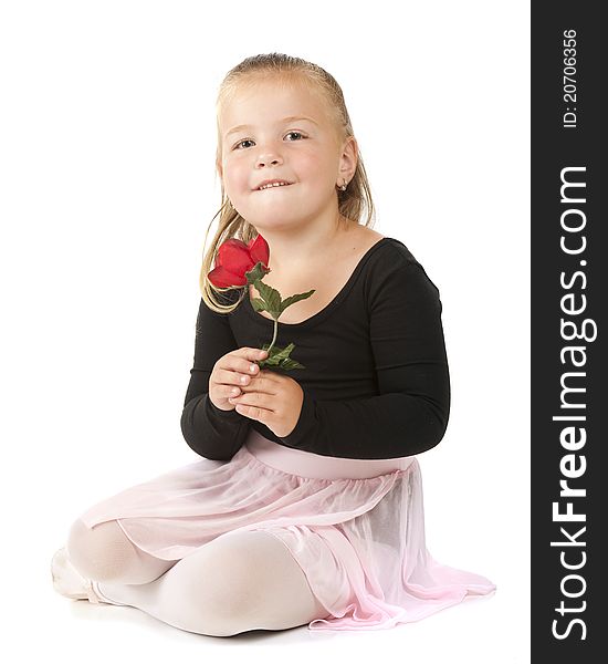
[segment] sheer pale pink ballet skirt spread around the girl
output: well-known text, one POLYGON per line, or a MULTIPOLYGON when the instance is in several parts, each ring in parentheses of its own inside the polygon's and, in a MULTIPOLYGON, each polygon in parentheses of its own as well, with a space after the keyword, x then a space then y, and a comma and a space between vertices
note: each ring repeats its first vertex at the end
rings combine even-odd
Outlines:
POLYGON ((264 530, 292 553, 327 610, 310 630, 392 627, 495 590, 427 551, 416 457, 326 457, 251 429, 229 461, 201 458, 80 518, 90 528, 115 519, 134 544, 165 560, 228 532, 264 530))

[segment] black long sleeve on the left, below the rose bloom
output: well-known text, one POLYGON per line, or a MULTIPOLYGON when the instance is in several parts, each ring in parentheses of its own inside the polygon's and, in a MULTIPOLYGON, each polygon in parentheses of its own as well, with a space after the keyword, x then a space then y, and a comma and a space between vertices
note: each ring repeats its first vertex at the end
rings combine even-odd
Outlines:
POLYGON ((244 443, 251 421, 237 411, 221 411, 209 398, 209 377, 216 362, 238 347, 229 314, 211 311, 200 300, 195 361, 184 400, 181 433, 186 443, 208 459, 230 460, 244 443))

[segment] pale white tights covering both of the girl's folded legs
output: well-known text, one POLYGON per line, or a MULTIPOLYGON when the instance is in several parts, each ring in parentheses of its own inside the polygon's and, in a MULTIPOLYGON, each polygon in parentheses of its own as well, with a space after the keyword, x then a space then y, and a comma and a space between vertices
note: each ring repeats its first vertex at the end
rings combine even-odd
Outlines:
POLYGON ((175 561, 141 551, 116 521, 76 519, 66 549, 102 599, 187 632, 287 630, 328 614, 283 542, 261 530, 226 533, 175 561))

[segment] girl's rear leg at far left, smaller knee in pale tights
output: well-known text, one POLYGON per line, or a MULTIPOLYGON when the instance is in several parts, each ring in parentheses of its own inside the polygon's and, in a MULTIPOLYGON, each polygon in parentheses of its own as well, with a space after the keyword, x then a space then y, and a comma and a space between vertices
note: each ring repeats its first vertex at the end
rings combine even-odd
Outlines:
POLYGON ((177 562, 141 551, 116 521, 88 528, 81 519, 76 519, 65 548, 76 570, 85 579, 94 581, 148 583, 177 562))

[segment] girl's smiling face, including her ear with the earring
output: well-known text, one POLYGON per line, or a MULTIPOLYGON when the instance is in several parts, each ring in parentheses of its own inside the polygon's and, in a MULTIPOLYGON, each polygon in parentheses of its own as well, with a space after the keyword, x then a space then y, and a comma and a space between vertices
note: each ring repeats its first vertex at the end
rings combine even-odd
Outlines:
POLYGON ((356 143, 338 142, 326 104, 305 83, 260 80, 238 90, 219 127, 224 191, 260 232, 337 216, 336 184, 355 172, 356 143), (289 184, 259 188, 273 179, 289 184))

